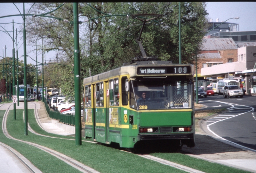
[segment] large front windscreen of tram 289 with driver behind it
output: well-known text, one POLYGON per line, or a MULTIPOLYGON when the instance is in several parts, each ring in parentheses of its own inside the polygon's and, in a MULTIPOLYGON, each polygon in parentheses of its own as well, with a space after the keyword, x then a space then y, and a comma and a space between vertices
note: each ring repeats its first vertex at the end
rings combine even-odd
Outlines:
POLYGON ((131 104, 134 109, 192 108, 192 83, 188 81, 131 81, 131 104))

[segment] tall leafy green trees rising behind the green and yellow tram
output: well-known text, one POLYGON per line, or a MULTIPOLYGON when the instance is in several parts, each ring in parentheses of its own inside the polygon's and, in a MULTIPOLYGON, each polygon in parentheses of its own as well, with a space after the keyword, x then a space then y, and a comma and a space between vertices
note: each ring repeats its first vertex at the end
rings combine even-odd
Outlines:
MULTIPOLYGON (((201 46, 207 23, 205 3, 180 4, 182 63, 194 64, 194 56, 201 46)), ((60 3, 38 3, 33 6, 32 13, 43 14, 56 9, 59 5, 60 3)), ((89 76, 89 69, 91 74, 95 75, 141 56, 136 38, 139 36, 142 22, 135 19, 133 14, 161 14, 161 17, 147 22, 141 35, 142 44, 148 56, 157 56, 162 61, 179 62, 178 2, 79 3, 79 20, 83 20, 79 29, 81 79, 89 76), (122 15, 109 16, 117 14, 122 15)), ((73 21, 73 4, 64 4, 60 9, 47 15, 73 21)), ((63 52, 62 63, 71 67, 74 63, 73 25, 43 17, 29 17, 27 20, 28 43, 34 45, 35 40, 44 39, 43 51, 63 52)), ((56 77, 56 67, 47 66, 47 69, 47 76, 55 76, 49 78, 49 85, 58 85, 64 94, 74 97, 74 75, 70 73, 72 68, 63 68, 61 76, 58 75, 59 78, 56 77)))

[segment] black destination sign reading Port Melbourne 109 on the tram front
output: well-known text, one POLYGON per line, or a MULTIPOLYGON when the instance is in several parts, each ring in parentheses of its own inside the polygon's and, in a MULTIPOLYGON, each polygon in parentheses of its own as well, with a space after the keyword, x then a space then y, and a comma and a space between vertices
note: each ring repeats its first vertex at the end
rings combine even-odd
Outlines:
POLYGON ((171 67, 139 67, 138 75, 158 75, 158 74, 190 74, 190 66, 171 66, 171 67))

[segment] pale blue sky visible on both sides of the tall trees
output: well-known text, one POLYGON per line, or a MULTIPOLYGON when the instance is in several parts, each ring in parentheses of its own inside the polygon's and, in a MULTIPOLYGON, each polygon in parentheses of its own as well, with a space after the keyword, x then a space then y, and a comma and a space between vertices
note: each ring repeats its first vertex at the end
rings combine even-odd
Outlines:
MULTIPOLYGON (((25 9, 28 9, 31 4, 25 3, 25 9)), ((16 6, 20 10, 21 13, 23 13, 23 3, 17 3, 16 6)), ((231 23, 237 23, 239 24, 239 31, 256 31, 256 2, 206 2, 206 10, 209 13, 207 18, 212 18, 212 21, 216 21, 216 18, 219 18, 219 22, 225 21, 228 18, 234 18, 239 17, 239 19, 230 19, 227 22, 231 23)), ((6 16, 6 15, 12 15, 12 14, 19 14, 19 11, 16 9, 16 7, 12 3, 0 3, 0 17, 6 16)), ((8 18, 0 18, 0 23, 9 23, 12 22, 12 19, 14 19, 14 22, 22 23, 23 20, 21 16, 18 17, 8 17, 8 18)), ((0 26, 4 27, 6 30, 11 31, 12 30, 12 24, 0 24, 0 26)), ((14 30, 19 25, 14 25, 14 30)), ((0 27, 0 30, 3 30, 0 27)), ((12 36, 12 33, 11 33, 12 36)), ((15 32, 16 36, 16 32, 15 32)), ((3 56, 3 51, 1 50, 1 47, 7 47, 6 49, 6 56, 12 57, 12 47, 13 43, 7 34, 4 32, 0 32, 0 56, 3 56)), ((18 41, 20 40, 20 43, 18 44, 18 51, 19 51, 19 57, 23 54, 23 39, 22 39, 22 33, 19 34, 18 41), (21 39, 21 40, 20 40, 21 39)), ((15 46, 16 49, 16 46, 15 46)), ((35 54, 33 52, 30 52, 32 50, 31 47, 27 47, 27 53, 31 57, 35 57, 35 54)), ((50 60, 50 58, 55 56, 55 52, 53 53, 46 53, 46 60, 50 60)), ((5 56, 5 52, 4 52, 5 56)), ((38 57, 42 57, 42 55, 38 55, 38 57)), ((1 57, 0 57, 1 58, 1 57)), ((21 57, 23 59, 23 57, 21 57)), ((38 60, 41 62, 41 60, 38 60)), ((27 59, 27 63, 33 63, 35 62, 31 60, 30 58, 27 59)))

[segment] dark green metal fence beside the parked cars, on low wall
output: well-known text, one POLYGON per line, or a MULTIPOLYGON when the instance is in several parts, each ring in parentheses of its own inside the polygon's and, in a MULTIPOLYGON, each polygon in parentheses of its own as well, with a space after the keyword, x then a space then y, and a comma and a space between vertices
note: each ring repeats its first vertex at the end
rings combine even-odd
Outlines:
POLYGON ((75 115, 71 115, 70 113, 62 114, 60 111, 52 111, 49 105, 46 102, 46 99, 44 99, 44 105, 46 112, 48 113, 49 117, 52 119, 57 119, 61 123, 68 124, 71 126, 75 125, 75 115))

